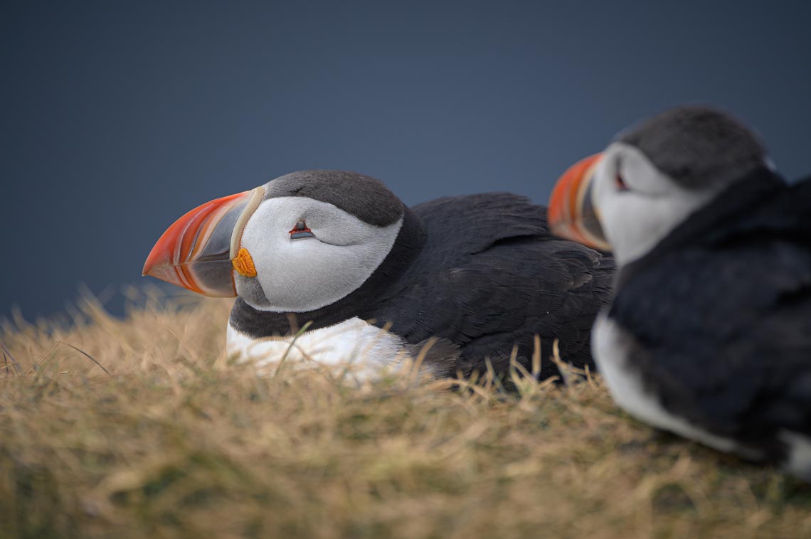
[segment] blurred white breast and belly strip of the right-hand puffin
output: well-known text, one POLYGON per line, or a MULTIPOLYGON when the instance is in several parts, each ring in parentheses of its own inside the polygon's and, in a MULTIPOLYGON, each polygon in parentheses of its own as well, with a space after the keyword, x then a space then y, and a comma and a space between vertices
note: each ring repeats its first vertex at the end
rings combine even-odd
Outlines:
POLYGON ((659 429, 697 440, 719 451, 733 452, 757 460, 757 451, 740 447, 735 440, 710 434, 682 417, 667 412, 660 404, 658 396, 646 391, 639 374, 633 370, 628 358, 629 338, 607 317, 605 311, 599 314, 591 333, 591 349, 594 361, 616 404, 640 421, 659 429))

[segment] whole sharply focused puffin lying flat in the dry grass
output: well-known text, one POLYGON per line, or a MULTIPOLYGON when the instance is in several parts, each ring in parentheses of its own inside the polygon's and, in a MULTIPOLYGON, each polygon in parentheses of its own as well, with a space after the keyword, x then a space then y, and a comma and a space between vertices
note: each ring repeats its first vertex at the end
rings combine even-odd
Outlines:
MULTIPOLYGON (((226 350, 268 366, 405 361, 436 378, 530 370, 539 336, 593 366, 610 256, 560 239, 547 208, 509 193, 407 207, 380 180, 338 170, 286 174, 204 203, 166 229, 144 275, 236 297, 226 350)), ((541 361, 539 378, 559 374, 541 361)))

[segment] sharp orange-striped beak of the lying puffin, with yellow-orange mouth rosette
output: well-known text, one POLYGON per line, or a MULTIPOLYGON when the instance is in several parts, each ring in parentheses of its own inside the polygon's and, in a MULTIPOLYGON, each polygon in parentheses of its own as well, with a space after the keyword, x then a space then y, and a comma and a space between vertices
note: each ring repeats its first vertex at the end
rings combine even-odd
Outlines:
POLYGON ((256 275, 250 253, 239 242, 263 195, 264 188, 257 187, 195 207, 158 239, 143 275, 206 296, 236 296, 234 270, 256 275))

